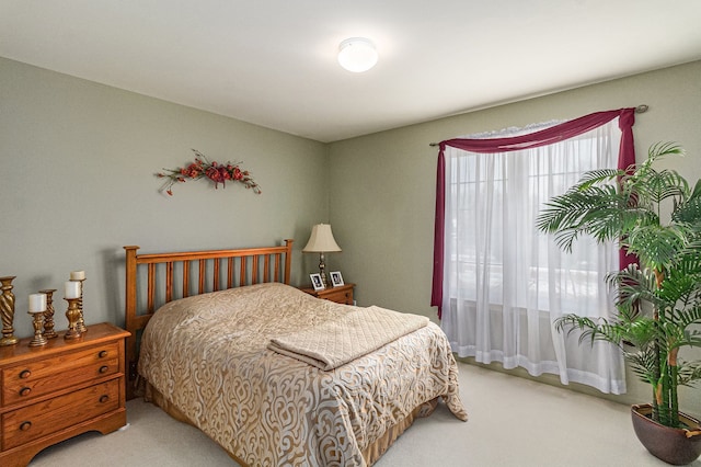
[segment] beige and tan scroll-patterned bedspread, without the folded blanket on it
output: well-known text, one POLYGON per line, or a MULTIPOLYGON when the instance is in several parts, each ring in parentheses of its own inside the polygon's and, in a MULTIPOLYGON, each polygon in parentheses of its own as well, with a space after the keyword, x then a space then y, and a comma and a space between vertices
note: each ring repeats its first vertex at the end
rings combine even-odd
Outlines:
POLYGON ((455 358, 432 322, 330 371, 267 349, 349 310, 363 309, 281 284, 172 301, 143 332, 139 373, 251 466, 365 466, 367 446, 437 397, 467 420, 455 358))

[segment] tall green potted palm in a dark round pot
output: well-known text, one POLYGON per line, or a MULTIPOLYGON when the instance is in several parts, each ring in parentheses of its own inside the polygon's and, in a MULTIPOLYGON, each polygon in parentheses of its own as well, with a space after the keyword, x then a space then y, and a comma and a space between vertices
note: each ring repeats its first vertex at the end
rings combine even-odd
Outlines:
POLYGON ((676 171, 653 166, 681 155, 677 145, 657 144, 647 160, 628 170, 589 171, 551 198, 537 220, 565 251, 590 235, 598 242, 618 240, 637 257, 637 264, 607 276, 616 318, 565 315, 555 326, 578 331, 581 342, 602 340, 621 349, 632 372, 652 387, 652 403, 632 407, 635 433, 653 455, 674 465, 701 455, 699 421, 679 412, 677 392, 701 379, 701 361, 679 355, 701 346, 701 183, 691 187, 676 171))

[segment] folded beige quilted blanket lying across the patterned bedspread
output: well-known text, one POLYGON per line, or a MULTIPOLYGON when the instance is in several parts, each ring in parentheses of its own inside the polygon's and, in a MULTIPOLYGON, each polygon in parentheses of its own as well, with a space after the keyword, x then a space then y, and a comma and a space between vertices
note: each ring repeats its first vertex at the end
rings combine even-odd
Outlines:
POLYGON ((371 306, 341 319, 271 339, 267 348, 321 369, 333 369, 425 327, 425 316, 371 306))

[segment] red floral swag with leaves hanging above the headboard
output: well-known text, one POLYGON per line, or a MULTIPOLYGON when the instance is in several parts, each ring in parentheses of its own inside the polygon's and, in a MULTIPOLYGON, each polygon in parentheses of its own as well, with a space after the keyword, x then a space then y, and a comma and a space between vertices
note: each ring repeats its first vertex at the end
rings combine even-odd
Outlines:
POLYGON ((208 179, 215 183, 215 189, 219 187, 219 183, 225 187, 227 181, 243 183, 246 189, 253 190, 255 194, 261 194, 261 187, 251 176, 248 170, 241 169, 243 162, 227 162, 218 163, 216 161, 209 162, 205 155, 197 149, 193 149, 195 152, 195 161, 191 162, 186 167, 179 167, 176 169, 163 169, 164 172, 159 172, 156 175, 160 179, 168 179, 160 191, 165 191, 170 196, 173 195, 173 185, 175 183, 184 183, 187 180, 208 179))

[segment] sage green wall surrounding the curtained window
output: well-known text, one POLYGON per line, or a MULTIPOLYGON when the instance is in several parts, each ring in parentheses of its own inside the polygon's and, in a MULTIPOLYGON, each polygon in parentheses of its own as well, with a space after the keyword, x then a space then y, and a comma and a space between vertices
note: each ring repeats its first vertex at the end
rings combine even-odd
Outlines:
MULTIPOLYGON (((634 126, 639 160, 656 141, 677 141, 688 156, 667 164, 689 180, 701 178, 701 61, 331 144, 330 221, 358 304, 436 320, 429 303, 437 148, 430 143, 639 104, 650 105, 634 126)), ((648 392, 630 376, 629 394, 618 400, 647 401, 648 392)), ((685 403, 699 414, 701 390, 685 403)))

